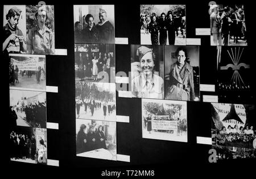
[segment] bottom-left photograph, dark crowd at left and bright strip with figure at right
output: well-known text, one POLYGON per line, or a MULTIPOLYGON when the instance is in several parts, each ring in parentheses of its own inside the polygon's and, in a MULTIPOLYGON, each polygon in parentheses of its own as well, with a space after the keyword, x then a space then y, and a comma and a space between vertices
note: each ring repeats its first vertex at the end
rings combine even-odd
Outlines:
POLYGON ((46 164, 46 135, 46 128, 15 127, 10 132, 10 160, 32 164, 46 164))

